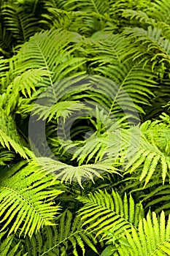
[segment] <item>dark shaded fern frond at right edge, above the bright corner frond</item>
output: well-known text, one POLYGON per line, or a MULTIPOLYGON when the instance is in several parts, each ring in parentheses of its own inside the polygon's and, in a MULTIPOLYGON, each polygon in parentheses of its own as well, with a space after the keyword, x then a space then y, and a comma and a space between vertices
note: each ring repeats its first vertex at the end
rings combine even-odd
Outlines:
POLYGON ((120 195, 131 193, 134 198, 137 198, 144 205, 144 211, 154 211, 160 214, 164 211, 165 215, 169 215, 169 177, 166 177, 162 184, 161 173, 154 173, 150 181, 144 186, 144 180, 139 181, 142 167, 131 173, 130 177, 124 176, 120 181, 109 184, 106 189, 115 187, 117 191, 121 189, 120 195))

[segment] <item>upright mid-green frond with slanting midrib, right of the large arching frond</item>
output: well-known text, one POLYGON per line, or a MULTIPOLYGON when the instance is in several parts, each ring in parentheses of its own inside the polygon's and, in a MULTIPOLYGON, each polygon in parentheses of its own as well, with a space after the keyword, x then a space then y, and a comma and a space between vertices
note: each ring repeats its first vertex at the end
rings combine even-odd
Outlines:
POLYGON ((150 67, 142 69, 140 61, 133 62, 133 64, 130 61, 117 65, 108 64, 105 67, 96 67, 93 71, 100 72, 117 84, 111 93, 114 95, 112 113, 117 111, 117 105, 120 105, 123 110, 131 111, 131 113, 135 110, 142 112, 139 104, 148 104, 147 97, 152 95, 150 88, 156 85, 152 79, 154 75, 150 72, 150 67))

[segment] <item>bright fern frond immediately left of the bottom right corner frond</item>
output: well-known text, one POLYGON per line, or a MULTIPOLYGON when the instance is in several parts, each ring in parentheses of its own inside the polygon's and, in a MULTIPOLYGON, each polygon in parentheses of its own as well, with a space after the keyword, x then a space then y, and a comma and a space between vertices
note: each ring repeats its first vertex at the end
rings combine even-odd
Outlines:
POLYGON ((87 230, 96 233, 96 236, 103 234, 104 230, 112 230, 114 227, 115 236, 129 230, 131 225, 137 227, 139 220, 143 217, 142 205, 134 203, 133 198, 127 195, 121 199, 120 195, 112 190, 112 194, 98 190, 86 197, 78 197, 84 203, 79 214, 83 220, 83 226, 87 230))

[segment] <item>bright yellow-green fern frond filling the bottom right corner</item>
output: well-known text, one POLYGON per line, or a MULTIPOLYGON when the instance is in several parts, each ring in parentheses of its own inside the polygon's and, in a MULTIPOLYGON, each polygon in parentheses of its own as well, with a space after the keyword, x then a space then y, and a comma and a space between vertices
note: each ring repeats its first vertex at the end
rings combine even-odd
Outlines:
POLYGON ((131 234, 125 231, 129 246, 120 244, 120 255, 169 255, 170 253, 170 219, 165 219, 164 212, 160 218, 153 212, 139 222, 138 230, 131 227, 131 234))

